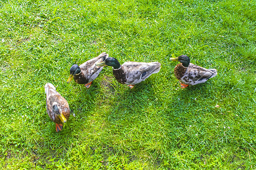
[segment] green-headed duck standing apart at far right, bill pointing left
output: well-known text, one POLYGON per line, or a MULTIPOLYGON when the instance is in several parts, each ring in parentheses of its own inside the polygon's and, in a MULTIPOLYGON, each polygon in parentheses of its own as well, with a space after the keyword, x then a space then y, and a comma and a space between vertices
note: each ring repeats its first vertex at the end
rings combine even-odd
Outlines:
POLYGON ((170 58, 170 60, 180 62, 174 68, 174 75, 179 80, 181 88, 204 83, 217 75, 216 69, 205 69, 204 67, 194 65, 190 63, 189 57, 185 55, 170 58))

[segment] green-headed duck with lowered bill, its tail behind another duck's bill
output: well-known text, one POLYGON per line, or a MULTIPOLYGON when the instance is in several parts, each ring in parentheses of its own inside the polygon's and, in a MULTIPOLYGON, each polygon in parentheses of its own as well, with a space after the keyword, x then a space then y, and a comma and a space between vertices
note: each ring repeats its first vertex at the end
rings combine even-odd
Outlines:
POLYGON ((98 67, 95 64, 98 62, 105 61, 109 57, 109 54, 101 53, 98 57, 89 59, 88 61, 82 63, 80 66, 75 64, 70 68, 70 75, 67 83, 70 83, 72 79, 75 80, 77 84, 85 84, 86 88, 89 88, 92 81, 97 78, 103 67, 98 67))

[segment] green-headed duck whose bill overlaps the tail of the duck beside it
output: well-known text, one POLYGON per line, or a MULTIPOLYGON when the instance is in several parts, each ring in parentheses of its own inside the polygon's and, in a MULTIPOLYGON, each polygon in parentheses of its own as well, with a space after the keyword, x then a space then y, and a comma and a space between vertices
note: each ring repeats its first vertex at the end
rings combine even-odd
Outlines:
POLYGON ((96 63, 96 66, 112 66, 113 74, 117 82, 127 84, 133 88, 135 84, 141 83, 151 74, 158 73, 161 64, 159 62, 125 62, 120 65, 114 57, 106 58, 103 62, 96 63))

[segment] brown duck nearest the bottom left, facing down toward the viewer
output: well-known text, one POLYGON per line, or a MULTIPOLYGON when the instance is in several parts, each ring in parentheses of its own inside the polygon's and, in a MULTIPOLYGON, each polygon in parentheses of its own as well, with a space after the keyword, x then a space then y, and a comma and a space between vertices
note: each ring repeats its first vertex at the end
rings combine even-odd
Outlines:
POLYGON ((51 83, 46 83, 44 91, 46 92, 46 110, 51 120, 55 122, 58 133, 70 116, 68 102, 51 83))

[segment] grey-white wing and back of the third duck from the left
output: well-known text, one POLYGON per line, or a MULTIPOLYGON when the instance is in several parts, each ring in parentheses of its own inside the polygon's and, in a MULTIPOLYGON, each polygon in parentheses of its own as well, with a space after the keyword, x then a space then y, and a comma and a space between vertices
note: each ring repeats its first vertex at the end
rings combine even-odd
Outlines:
POLYGON ((159 62, 125 62, 122 69, 126 75, 126 84, 137 84, 147 79, 148 76, 158 73, 159 62))

